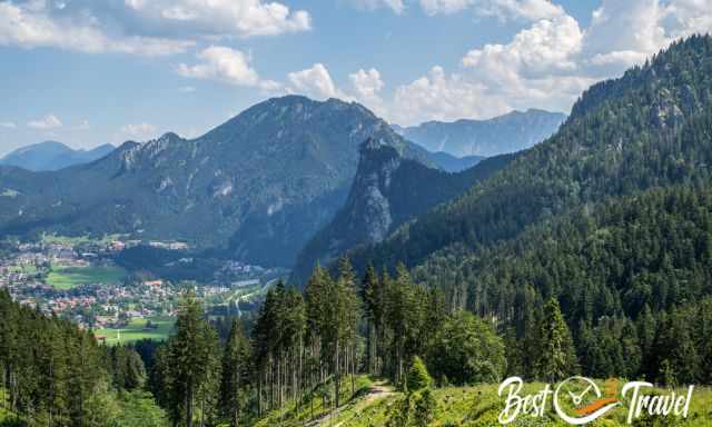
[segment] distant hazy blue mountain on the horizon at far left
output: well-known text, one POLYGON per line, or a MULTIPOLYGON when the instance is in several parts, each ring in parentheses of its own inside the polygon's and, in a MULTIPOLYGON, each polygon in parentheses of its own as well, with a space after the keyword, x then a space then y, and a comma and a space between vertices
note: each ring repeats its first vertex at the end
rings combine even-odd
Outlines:
POLYGON ((0 165, 17 166, 27 170, 58 170, 73 165, 88 163, 107 156, 116 147, 110 143, 91 150, 73 150, 57 141, 44 141, 18 148, 0 159, 0 165))

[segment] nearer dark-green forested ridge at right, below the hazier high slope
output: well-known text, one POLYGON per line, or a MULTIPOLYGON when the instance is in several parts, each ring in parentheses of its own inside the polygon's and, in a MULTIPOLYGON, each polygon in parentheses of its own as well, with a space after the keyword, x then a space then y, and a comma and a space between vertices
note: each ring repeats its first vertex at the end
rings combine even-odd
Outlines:
POLYGON ((524 356, 540 339, 531 325, 556 298, 585 374, 708 384, 711 262, 708 182, 582 206, 490 248, 452 246, 414 280, 442 288, 452 310, 511 328, 513 374, 537 376, 524 356))

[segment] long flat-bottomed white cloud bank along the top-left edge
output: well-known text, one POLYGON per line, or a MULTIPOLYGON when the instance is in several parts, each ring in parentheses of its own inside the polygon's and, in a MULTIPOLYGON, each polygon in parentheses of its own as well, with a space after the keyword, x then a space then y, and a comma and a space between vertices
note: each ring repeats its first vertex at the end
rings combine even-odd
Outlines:
POLYGON ((168 56, 198 39, 310 29, 306 11, 261 0, 0 1, 0 46, 168 56))

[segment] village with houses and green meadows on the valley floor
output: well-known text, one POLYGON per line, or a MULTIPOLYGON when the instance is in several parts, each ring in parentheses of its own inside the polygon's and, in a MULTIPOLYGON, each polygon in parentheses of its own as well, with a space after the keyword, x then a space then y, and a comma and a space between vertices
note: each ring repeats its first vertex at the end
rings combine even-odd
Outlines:
POLYGON ((211 280, 170 280, 116 262, 121 251, 138 246, 185 254, 177 241, 118 238, 42 238, 4 241, 0 250, 0 289, 42 314, 66 318, 99 339, 165 338, 182 292, 192 290, 209 311, 250 309, 284 271, 222 261, 211 280), (121 332, 123 331, 123 337, 121 332))

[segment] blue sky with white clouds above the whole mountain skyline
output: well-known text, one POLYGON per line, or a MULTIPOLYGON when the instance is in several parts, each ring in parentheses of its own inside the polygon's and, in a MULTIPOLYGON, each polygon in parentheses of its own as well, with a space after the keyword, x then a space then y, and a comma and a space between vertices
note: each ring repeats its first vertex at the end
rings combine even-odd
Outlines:
POLYGON ((287 93, 389 122, 568 112, 712 0, 0 0, 0 156, 198 137, 287 93))

